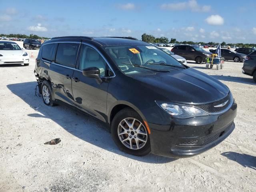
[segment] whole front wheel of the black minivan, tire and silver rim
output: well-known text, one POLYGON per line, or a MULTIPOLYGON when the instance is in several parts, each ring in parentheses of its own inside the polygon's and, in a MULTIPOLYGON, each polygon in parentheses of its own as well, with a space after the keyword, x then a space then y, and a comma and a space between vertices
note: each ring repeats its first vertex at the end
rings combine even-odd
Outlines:
POLYGON ((124 108, 114 116, 111 134, 121 151, 134 156, 145 156, 151 152, 150 138, 144 121, 131 108, 124 108))

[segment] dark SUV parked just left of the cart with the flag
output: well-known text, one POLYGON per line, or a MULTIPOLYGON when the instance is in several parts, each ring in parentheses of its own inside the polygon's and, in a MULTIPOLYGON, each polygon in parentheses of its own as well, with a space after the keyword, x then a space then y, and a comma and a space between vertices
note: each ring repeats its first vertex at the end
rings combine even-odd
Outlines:
POLYGON ((211 52, 207 52, 194 45, 177 45, 172 48, 172 52, 174 52, 176 55, 184 57, 186 60, 193 60, 197 64, 205 62, 206 58, 209 58, 212 54, 211 52))

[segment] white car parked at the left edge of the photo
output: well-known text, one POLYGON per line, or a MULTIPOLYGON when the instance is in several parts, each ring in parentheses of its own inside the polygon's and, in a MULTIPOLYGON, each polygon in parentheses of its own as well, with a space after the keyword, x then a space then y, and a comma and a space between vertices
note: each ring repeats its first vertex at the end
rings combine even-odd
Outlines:
POLYGON ((15 42, 0 40, 0 65, 1 64, 24 64, 24 66, 28 66, 28 53, 15 42))

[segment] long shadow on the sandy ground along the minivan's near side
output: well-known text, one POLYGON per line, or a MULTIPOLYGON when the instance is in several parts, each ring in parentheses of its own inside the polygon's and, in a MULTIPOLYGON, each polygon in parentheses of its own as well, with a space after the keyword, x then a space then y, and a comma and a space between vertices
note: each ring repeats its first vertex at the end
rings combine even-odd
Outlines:
POLYGON ((49 107, 44 105, 42 97, 35 96, 36 85, 36 82, 7 85, 12 93, 20 97, 31 108, 36 110, 35 113, 28 114, 28 116, 34 118, 49 118, 59 124, 66 131, 84 140, 85 142, 137 161, 161 164, 176 160, 156 156, 154 154, 137 157, 120 151, 112 140, 106 124, 89 115, 82 114, 77 110, 73 110, 72 108, 66 106, 49 107))

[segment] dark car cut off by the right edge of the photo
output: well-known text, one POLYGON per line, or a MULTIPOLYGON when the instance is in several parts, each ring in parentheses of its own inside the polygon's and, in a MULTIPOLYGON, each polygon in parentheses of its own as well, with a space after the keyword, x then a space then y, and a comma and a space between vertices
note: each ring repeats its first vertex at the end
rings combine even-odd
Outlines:
POLYGON ((246 56, 244 66, 242 67, 242 73, 252 76, 256 82, 256 51, 246 56))

